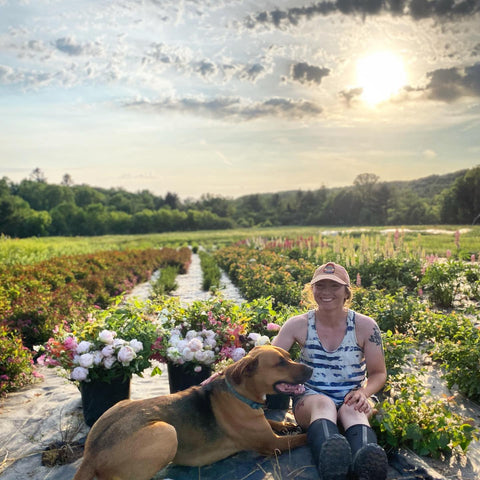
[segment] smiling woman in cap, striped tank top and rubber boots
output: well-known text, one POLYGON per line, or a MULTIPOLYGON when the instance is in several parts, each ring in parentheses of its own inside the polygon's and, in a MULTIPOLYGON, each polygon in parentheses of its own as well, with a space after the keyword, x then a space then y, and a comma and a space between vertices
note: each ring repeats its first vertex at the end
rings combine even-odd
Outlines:
POLYGON ((295 418, 322 480, 344 480, 350 470, 359 480, 384 480, 387 457, 368 421, 369 398, 387 377, 380 330, 348 309, 350 278, 341 265, 318 267, 310 284, 317 308, 289 318, 272 342, 285 350, 297 342, 299 361, 314 369, 294 398, 295 418))

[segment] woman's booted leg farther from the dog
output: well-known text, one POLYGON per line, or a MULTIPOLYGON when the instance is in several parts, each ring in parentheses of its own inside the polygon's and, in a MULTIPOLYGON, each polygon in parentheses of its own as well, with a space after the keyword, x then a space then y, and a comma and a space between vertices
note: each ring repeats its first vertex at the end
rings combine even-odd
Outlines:
POLYGON ((352 469, 358 480, 385 480, 388 460, 377 436, 364 413, 342 405, 338 412, 339 422, 345 429, 345 437, 352 451, 352 469))

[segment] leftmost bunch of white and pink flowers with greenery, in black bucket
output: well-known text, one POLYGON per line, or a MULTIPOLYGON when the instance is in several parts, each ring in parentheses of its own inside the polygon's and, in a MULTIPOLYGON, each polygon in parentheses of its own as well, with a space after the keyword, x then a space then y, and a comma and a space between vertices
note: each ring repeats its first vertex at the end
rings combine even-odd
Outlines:
POLYGON ((111 382, 140 375, 150 366, 156 327, 140 305, 114 306, 90 314, 81 324, 57 327, 37 350, 40 365, 60 366, 71 380, 111 382))

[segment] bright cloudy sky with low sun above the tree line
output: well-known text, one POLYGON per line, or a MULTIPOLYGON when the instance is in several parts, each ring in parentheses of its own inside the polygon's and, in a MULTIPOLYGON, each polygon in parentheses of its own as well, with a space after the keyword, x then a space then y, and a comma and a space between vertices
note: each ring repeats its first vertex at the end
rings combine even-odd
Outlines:
POLYGON ((236 198, 480 165, 480 0, 0 0, 0 178, 236 198))

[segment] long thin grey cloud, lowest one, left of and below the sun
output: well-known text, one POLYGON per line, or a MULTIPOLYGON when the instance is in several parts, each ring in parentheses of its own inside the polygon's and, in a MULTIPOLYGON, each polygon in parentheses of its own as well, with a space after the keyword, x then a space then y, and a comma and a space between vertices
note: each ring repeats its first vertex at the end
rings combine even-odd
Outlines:
POLYGON ((314 118, 322 113, 322 108, 306 100, 271 98, 263 102, 246 102, 239 98, 168 98, 160 101, 145 99, 127 102, 127 108, 135 108, 155 113, 178 112, 197 116, 231 121, 249 121, 265 117, 297 120, 314 118))

